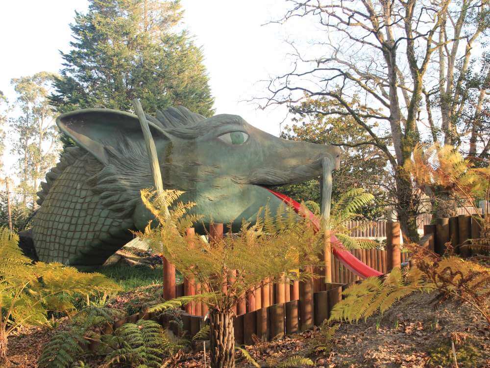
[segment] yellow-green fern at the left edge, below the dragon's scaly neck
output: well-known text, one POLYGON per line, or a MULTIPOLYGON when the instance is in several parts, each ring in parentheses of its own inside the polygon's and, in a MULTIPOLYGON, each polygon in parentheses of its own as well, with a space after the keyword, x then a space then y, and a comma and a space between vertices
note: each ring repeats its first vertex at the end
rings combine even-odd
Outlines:
POLYGON ((8 336, 21 325, 46 325, 49 313, 73 314, 75 293, 113 293, 120 288, 98 273, 83 273, 61 263, 32 263, 18 246, 19 237, 0 228, 0 361, 8 336))

